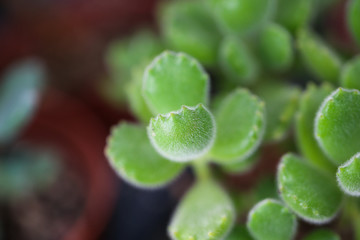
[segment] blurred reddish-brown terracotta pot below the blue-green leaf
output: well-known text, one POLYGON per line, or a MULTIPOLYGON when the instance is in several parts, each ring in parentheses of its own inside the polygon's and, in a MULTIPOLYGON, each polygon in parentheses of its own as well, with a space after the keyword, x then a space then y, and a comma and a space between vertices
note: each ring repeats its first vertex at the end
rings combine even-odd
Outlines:
POLYGON ((66 168, 84 183, 83 212, 65 240, 97 239, 112 213, 118 191, 116 175, 104 156, 108 129, 81 101, 48 90, 21 141, 55 148, 66 168))

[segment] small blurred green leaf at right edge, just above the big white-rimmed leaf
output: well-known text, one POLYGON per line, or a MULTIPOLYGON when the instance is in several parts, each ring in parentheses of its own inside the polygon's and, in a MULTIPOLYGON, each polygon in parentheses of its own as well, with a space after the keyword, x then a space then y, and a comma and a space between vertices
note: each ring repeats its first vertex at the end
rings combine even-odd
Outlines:
POLYGON ((360 90, 360 56, 347 62, 341 69, 341 86, 360 90))

